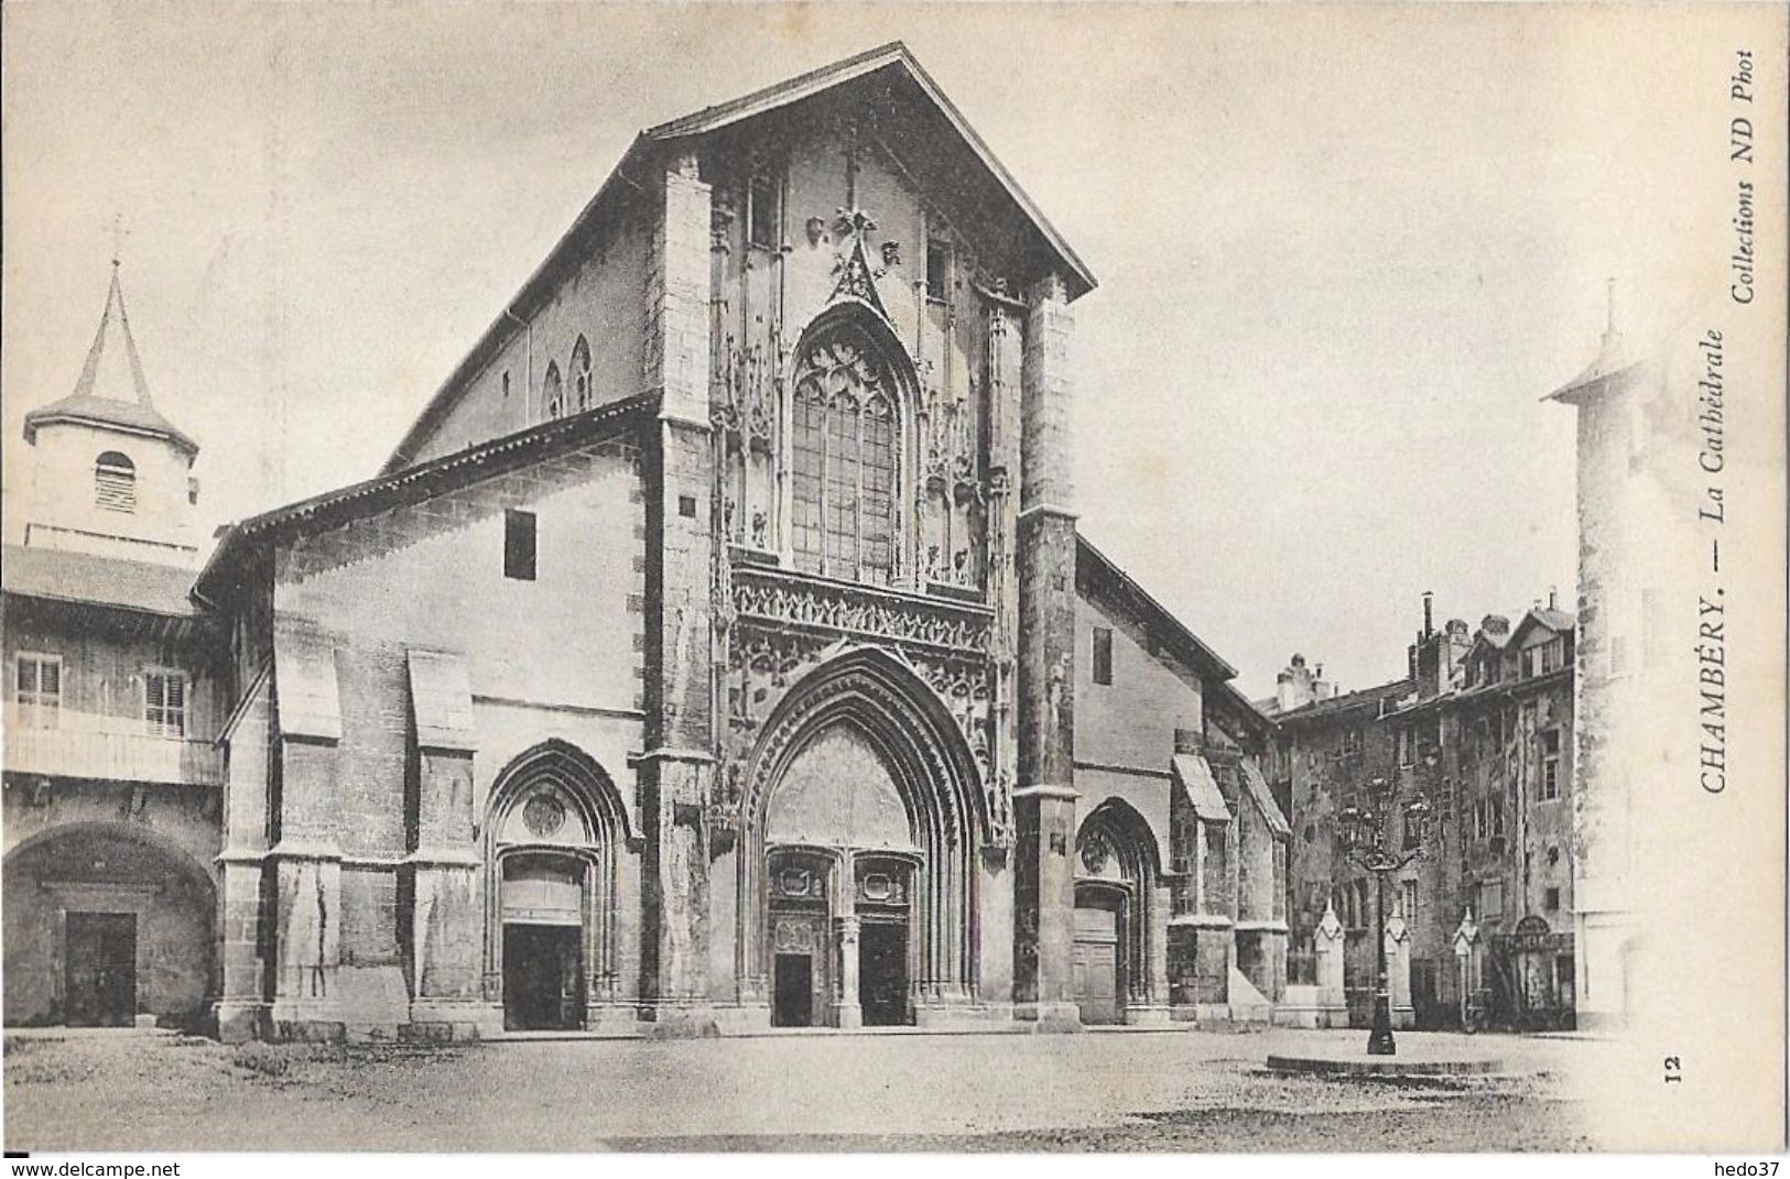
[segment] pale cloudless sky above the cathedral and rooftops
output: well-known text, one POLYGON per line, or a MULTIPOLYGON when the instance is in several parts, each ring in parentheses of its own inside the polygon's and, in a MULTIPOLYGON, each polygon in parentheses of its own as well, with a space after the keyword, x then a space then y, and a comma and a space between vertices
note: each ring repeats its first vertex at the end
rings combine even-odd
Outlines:
MULTIPOLYGON (((4 21, 5 494, 115 218, 206 533, 374 474, 634 134, 904 39, 1099 277, 1083 533, 1239 669, 1346 689, 1575 585, 1616 283, 1692 261, 1718 9, 68 5, 4 21)), ((7 539, 16 537, 9 510, 7 539)))

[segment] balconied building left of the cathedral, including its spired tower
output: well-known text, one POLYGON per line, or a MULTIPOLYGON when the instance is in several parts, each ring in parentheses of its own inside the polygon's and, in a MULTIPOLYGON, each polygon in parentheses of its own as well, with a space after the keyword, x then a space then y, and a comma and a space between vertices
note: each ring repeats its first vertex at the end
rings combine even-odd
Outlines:
POLYGON ((25 440, 0 571, 5 1022, 202 1025, 227 648, 186 592, 199 447, 150 399, 116 265, 73 394, 25 440))

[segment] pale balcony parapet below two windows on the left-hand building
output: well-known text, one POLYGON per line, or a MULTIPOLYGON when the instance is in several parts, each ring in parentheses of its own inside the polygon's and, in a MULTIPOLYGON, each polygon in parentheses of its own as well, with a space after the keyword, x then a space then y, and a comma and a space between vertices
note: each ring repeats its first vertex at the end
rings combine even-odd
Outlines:
POLYGON ((224 785, 224 751, 211 741, 152 734, 143 721, 70 708, 57 710, 52 725, 41 714, 29 719, 36 723, 7 705, 7 773, 224 785))

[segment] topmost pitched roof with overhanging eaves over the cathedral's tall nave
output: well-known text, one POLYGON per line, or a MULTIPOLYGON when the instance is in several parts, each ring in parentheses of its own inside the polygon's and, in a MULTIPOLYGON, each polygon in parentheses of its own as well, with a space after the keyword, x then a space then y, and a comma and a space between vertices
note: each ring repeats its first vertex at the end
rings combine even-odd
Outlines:
POLYGON ((1076 252, 1069 249, 1069 243, 1060 233, 1056 233, 1051 222, 1044 218, 1044 213, 1038 211, 1038 206, 1033 204, 1031 197, 1027 197, 1013 181, 1011 174, 1001 166, 1001 161, 993 157, 993 152, 988 150, 988 145, 983 143, 981 136, 977 136, 968 122, 965 122, 958 107, 945 98, 938 84, 925 73, 925 70, 920 68, 920 63, 913 59, 908 47, 900 41, 891 41, 854 57, 847 57, 845 61, 836 61, 831 66, 822 66, 820 70, 813 70, 786 82, 754 91, 743 98, 703 107, 695 115, 659 123, 657 127, 643 131, 635 136, 634 143, 621 157, 621 163, 616 165, 616 168, 609 174, 609 179, 605 179, 601 188, 596 190, 596 195, 591 197, 578 216, 573 218, 571 227, 560 236, 553 249, 548 250, 548 256, 539 267, 535 267, 533 274, 528 276, 516 297, 510 299, 503 311, 490 322, 489 327, 485 327, 483 335, 460 360, 440 388, 435 390, 435 395, 430 397, 422 413, 417 415, 417 420, 408 431, 405 431, 403 440, 392 451, 390 458, 385 460, 381 472, 392 474, 394 471, 401 471, 410 465, 417 444, 428 437, 435 422, 448 411, 449 406, 453 406, 465 383, 487 363, 490 363, 490 358, 507 340, 512 338, 516 331, 521 331, 517 317, 526 317, 532 306, 551 293, 560 270, 571 265, 576 258, 575 243, 589 236, 592 227, 601 222, 616 199, 623 193, 639 190, 637 177, 648 172, 648 161, 653 156, 668 150, 671 145, 732 127, 771 111, 786 109, 820 93, 870 75, 884 75, 918 95, 927 109, 936 115, 936 120, 940 120, 940 134, 954 134, 956 140, 968 148, 970 156, 967 159, 974 161, 972 170, 977 170, 981 175, 986 175, 990 182, 999 186, 999 190, 1026 218, 1031 231, 1036 234, 1036 242, 1049 250, 1058 263, 1061 263, 1070 299, 1076 299, 1094 288, 1094 274, 1076 256, 1076 252))

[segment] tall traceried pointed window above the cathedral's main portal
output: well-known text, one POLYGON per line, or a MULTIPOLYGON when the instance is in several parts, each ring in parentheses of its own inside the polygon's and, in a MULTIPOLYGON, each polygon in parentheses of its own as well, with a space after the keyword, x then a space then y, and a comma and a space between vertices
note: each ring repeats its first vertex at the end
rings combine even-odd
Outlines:
POLYGON ((797 567, 893 581, 900 403, 888 367, 857 333, 822 336, 802 354, 791 408, 797 567))

